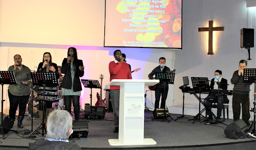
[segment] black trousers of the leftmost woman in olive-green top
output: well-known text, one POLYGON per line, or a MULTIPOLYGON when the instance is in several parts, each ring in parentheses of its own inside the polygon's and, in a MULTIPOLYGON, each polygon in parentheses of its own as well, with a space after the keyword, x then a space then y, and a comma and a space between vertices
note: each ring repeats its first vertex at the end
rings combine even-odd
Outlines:
POLYGON ((24 96, 15 96, 8 91, 9 101, 10 101, 10 110, 9 110, 9 117, 10 119, 15 120, 16 110, 19 106, 19 113, 18 113, 18 121, 22 122, 25 112, 26 106, 28 103, 29 95, 24 96))

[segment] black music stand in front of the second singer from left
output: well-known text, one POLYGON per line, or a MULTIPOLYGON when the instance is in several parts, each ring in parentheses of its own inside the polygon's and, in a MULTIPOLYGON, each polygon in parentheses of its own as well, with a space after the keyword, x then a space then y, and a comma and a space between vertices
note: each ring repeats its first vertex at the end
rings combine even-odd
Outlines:
MULTIPOLYGON (((57 72, 31 72, 31 78, 33 85, 39 85, 44 87, 44 96, 42 99, 42 123, 28 136, 28 138, 42 126, 42 136, 46 133, 45 123, 45 89, 47 87, 54 87, 58 85, 57 72), (45 131, 45 133, 44 133, 45 131)), ((33 112, 32 112, 33 113, 33 112)))

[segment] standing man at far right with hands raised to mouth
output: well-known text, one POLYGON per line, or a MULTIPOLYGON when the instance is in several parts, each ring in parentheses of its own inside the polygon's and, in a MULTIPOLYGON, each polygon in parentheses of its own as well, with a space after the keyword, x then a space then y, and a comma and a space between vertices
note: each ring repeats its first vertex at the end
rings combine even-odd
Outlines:
POLYGON ((240 119, 240 110, 242 103, 242 119, 245 121, 247 126, 250 126, 250 85, 252 83, 244 83, 244 69, 247 68, 247 61, 240 60, 239 62, 239 70, 234 71, 233 76, 231 78, 231 83, 234 84, 233 88, 233 98, 232 98, 232 108, 233 108, 233 119, 234 121, 240 119))

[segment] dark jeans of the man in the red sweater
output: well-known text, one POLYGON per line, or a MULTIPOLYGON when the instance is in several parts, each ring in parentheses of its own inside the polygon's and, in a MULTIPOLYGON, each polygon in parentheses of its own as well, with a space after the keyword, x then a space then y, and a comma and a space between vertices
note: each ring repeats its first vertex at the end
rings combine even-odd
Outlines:
POLYGON ((120 90, 110 90, 111 104, 114 114, 114 126, 119 127, 119 99, 120 90))

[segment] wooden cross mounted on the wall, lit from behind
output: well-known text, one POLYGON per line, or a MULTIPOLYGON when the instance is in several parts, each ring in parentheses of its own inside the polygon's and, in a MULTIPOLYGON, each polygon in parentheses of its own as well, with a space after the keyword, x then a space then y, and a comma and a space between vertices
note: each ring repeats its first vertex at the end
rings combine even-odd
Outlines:
POLYGON ((198 28, 198 32, 209 31, 209 38, 208 38, 208 55, 214 55, 214 51, 212 49, 212 34, 213 31, 224 31, 224 27, 213 27, 214 21, 209 21, 209 28, 198 28))

